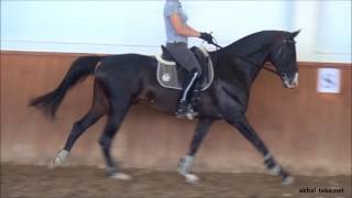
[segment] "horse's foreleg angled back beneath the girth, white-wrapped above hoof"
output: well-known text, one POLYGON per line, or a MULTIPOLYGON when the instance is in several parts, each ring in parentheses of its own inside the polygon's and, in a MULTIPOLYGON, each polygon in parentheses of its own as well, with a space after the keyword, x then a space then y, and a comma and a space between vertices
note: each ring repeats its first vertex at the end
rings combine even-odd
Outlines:
POLYGON ((194 183, 198 180, 198 177, 190 174, 191 164, 194 162, 195 154, 197 153, 202 140, 207 135, 209 128, 212 123, 210 119, 200 119, 198 121, 196 132, 191 140, 188 154, 180 160, 178 164, 178 173, 186 178, 186 182, 194 183))

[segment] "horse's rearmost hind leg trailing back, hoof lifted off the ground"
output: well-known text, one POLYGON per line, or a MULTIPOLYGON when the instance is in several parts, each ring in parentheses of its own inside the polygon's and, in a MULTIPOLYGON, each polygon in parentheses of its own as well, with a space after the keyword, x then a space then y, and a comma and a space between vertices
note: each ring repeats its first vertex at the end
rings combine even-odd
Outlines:
POLYGON ((88 113, 77 121, 67 138, 64 148, 48 164, 50 168, 61 166, 68 157, 77 139, 92 124, 95 124, 103 114, 108 112, 108 103, 101 87, 95 81, 94 102, 88 113))

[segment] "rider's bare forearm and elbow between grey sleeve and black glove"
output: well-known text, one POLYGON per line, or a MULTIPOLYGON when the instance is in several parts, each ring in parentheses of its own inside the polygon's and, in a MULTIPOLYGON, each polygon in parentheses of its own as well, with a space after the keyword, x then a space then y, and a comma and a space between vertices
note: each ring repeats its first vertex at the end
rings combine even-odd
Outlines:
POLYGON ((191 37, 200 36, 198 31, 183 23, 178 13, 172 14, 169 19, 177 34, 191 37))

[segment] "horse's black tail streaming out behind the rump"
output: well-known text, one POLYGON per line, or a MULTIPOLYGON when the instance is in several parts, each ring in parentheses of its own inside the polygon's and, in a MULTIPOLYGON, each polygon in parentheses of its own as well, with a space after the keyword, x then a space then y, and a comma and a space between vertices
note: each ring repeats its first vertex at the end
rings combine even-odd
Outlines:
POLYGON ((43 110, 44 113, 55 117, 57 108, 62 103, 66 92, 69 88, 75 86, 78 81, 85 79, 87 76, 95 73, 97 64, 101 56, 81 56, 78 57, 70 66, 65 78, 53 91, 31 100, 29 106, 34 106, 43 110))

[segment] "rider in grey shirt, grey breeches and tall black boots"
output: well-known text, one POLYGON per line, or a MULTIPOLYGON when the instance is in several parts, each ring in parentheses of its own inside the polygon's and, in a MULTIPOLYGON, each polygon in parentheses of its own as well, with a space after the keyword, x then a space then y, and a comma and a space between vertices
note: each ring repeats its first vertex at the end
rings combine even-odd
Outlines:
POLYGON ((164 21, 166 29, 166 48, 170 55, 188 70, 187 81, 184 84, 184 92, 179 99, 177 117, 194 117, 195 111, 190 106, 190 98, 194 87, 201 75, 201 67, 188 50, 188 37, 200 37, 212 43, 212 36, 201 33, 187 25, 187 15, 182 8, 179 0, 166 0, 164 7, 164 21))

